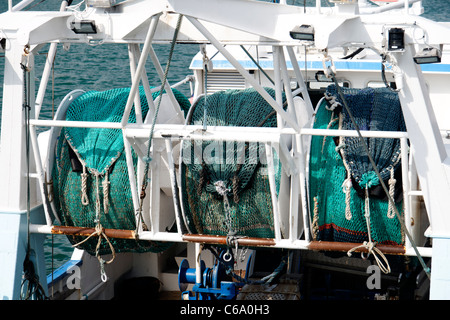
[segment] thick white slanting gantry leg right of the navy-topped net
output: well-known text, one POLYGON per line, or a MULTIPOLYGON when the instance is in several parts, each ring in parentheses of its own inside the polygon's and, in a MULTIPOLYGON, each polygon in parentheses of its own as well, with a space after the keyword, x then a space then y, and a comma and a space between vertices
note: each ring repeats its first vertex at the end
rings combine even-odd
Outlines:
MULTIPOLYGON (((429 91, 420 70, 414 63, 415 48, 405 46, 405 51, 394 53, 402 70, 403 87, 398 96, 408 127, 408 137, 414 149, 414 163, 424 193, 424 202, 433 234, 450 237, 450 186, 448 184, 448 154, 433 111, 429 91), (426 141, 424 141, 426 137, 426 141), (436 201, 436 199, 439 199, 436 201)), ((448 265, 450 266, 450 260, 448 265)))

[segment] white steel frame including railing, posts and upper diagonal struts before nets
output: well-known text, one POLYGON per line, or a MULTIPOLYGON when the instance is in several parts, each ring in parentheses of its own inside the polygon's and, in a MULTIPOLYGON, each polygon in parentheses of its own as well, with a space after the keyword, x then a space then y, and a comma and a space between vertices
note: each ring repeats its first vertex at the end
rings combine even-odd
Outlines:
MULTIPOLYGON (((37 136, 36 136, 36 126, 50 126, 50 127, 86 127, 86 128, 114 128, 121 129, 124 137, 124 144, 126 150, 127 164, 129 167, 129 179, 130 186, 132 190, 133 197, 133 205, 137 212, 139 207, 139 198, 138 198, 138 190, 140 190, 140 185, 138 179, 134 175, 134 170, 132 169, 132 161, 131 161, 131 148, 132 145, 141 144, 145 142, 149 137, 149 131, 151 126, 149 124, 144 123, 144 119, 142 117, 137 117, 136 124, 128 124, 128 117, 131 111, 131 107, 133 102, 136 102, 137 96, 137 88, 139 86, 139 82, 143 82, 145 93, 147 99, 150 103, 150 110, 154 112, 155 104, 151 99, 151 92, 155 91, 155 89, 150 90, 150 86, 148 84, 148 80, 145 76, 145 62, 147 57, 150 56, 153 61, 158 74, 161 79, 163 79, 163 70, 159 61, 156 58, 156 54, 154 53, 151 43, 153 41, 153 37, 156 32, 156 28, 158 25, 158 20, 160 18, 160 14, 154 15, 150 20, 150 25, 147 31, 147 36, 144 42, 144 47, 142 53, 139 51, 139 47, 137 44, 131 43, 129 44, 129 56, 130 56, 130 69, 132 72, 132 86, 130 90, 130 95, 125 107, 125 113, 122 118, 121 123, 96 123, 96 122, 77 122, 77 121, 61 121, 61 120, 31 120, 31 135, 32 135, 32 146, 35 155, 35 161, 37 165, 37 173, 34 175, 39 180, 39 185, 41 186, 41 196, 44 198, 45 192, 43 188, 45 187, 44 181, 44 171, 42 167, 42 163, 40 161, 39 148, 37 144, 37 136), (149 98, 150 97, 150 98, 149 98), (133 182, 134 181, 134 182, 133 182)), ((239 64, 239 62, 226 50, 226 48, 218 41, 212 34, 209 32, 198 19, 193 17, 186 17, 205 37, 208 39, 227 59, 228 61, 244 76, 244 78, 258 91, 263 97, 270 103, 270 105, 277 111, 279 116, 279 128, 229 128, 229 127, 208 127, 207 133, 205 136, 202 134, 201 130, 203 129, 200 126, 187 126, 187 125, 161 125, 157 124, 155 126, 154 132, 154 146, 157 145, 157 141, 160 140, 162 145, 167 149, 168 154, 168 169, 169 174, 172 181, 172 191, 173 194, 177 192, 176 187, 174 185, 175 181, 175 170, 173 167, 173 163, 175 159, 173 158, 172 153, 172 143, 174 141, 181 141, 183 139, 199 139, 199 140, 217 140, 217 141, 245 141, 245 142, 260 142, 266 145, 266 155, 268 159, 271 159, 271 146, 277 145, 279 150, 282 151, 282 158, 284 161, 287 161, 285 164, 290 171, 291 175, 291 191, 290 191, 290 210, 289 210, 289 236, 287 239, 283 239, 280 233, 280 225, 281 221, 279 221, 279 213, 278 213, 278 204, 276 201, 275 190, 274 190, 274 173, 273 173, 273 163, 269 161, 269 177, 270 177, 270 186, 271 193, 273 199, 273 208, 274 208, 274 226, 275 226, 275 247, 280 248, 295 248, 295 249, 307 249, 308 245, 311 241, 310 233, 309 233, 309 210, 308 210, 308 197, 307 197, 307 186, 306 186, 306 176, 307 176, 307 165, 305 162, 305 152, 303 151, 302 140, 303 136, 311 136, 311 135, 323 135, 323 136, 357 136, 356 131, 344 131, 344 130, 318 130, 318 129, 306 129, 299 128, 297 118, 295 113, 293 113, 293 96, 289 87, 285 88, 287 101, 288 101, 288 111, 285 112, 281 109, 280 105, 280 92, 282 88, 278 85, 275 86, 277 96, 276 99, 272 99, 266 91, 254 80, 254 78, 239 64), (288 127, 285 127, 285 126, 288 127), (291 136, 292 141, 294 141, 292 154, 289 154, 287 148, 284 146, 282 136, 291 136), (245 138, 243 138, 245 137, 245 138), (295 178, 297 177, 297 178, 295 178), (300 192, 299 192, 300 191, 300 192), (297 196, 300 193, 301 204, 302 207, 298 208, 297 196), (302 213, 302 223, 304 228, 305 240, 299 239, 297 234, 297 226, 299 223, 298 212, 302 213)), ((284 57, 284 50, 286 49, 291 62, 295 61, 295 54, 291 46, 279 46, 274 45, 274 65, 275 68, 275 79, 278 80, 276 83, 281 83, 283 80, 284 83, 289 84, 288 71, 286 68, 286 61, 284 57)), ((50 55, 49 59, 53 59, 50 55)), ((49 60, 50 61, 50 60, 49 60)), ((47 63, 47 66, 49 63, 47 63)), ((305 97, 306 105, 313 109, 311 104, 311 100, 309 99, 309 95, 306 91, 306 86, 304 79, 302 77, 301 70, 298 68, 296 63, 292 63, 294 67, 294 73, 296 76, 296 81, 299 84, 300 91, 305 97)), ((38 102, 42 99, 42 90, 45 89, 46 78, 48 78, 49 72, 47 70, 47 66, 44 70, 43 80, 41 81, 41 87, 38 91, 38 102), (42 89, 44 88, 44 89, 42 89)), ((166 83, 167 88, 169 88, 169 84, 166 83)), ((168 90, 170 93, 171 90, 168 90)), ((180 111, 178 103, 176 103, 173 94, 171 96, 171 101, 175 110, 180 111), (175 101, 174 101, 175 100, 175 101), (178 109, 177 109, 178 108, 178 109)), ((137 114, 139 115, 139 104, 137 104, 137 114)), ((181 112, 181 111, 180 111, 181 112)), ((36 118, 39 117, 39 109, 36 109, 36 118)), ((386 138, 398 138, 401 141, 402 145, 402 157, 404 159, 408 159, 407 145, 406 141, 408 139, 408 135, 406 133, 399 132, 362 132, 364 137, 386 137, 386 138)), ((155 152, 156 153, 156 152, 155 152)), ((160 152, 158 153, 160 155, 160 152)), ((139 161, 140 166, 142 166, 142 161, 139 161)), ((181 234, 181 221, 180 221, 180 212, 176 214, 176 223, 178 225, 178 233, 170 233, 161 231, 158 229, 158 215, 159 215, 159 188, 155 188, 158 185, 159 179, 159 168, 161 167, 160 156, 154 157, 154 163, 152 163, 151 167, 151 177, 152 177, 152 190, 156 190, 157 192, 151 192, 150 196, 150 208, 151 212, 149 215, 149 221, 151 225, 150 231, 139 230, 138 236, 139 239, 142 240, 158 240, 158 241, 175 241, 182 242, 183 237, 181 234)), ((402 174, 404 177, 408 176, 410 172, 410 168, 408 167, 408 161, 402 162, 402 174)), ((142 173, 138 171, 138 174, 142 173)), ((405 220, 408 221, 411 216, 411 209, 409 205, 409 196, 414 195, 414 192, 409 193, 409 181, 407 178, 403 179, 403 189, 404 189, 404 199, 405 199, 405 220)), ((45 206, 44 206, 45 207, 45 206)), ((176 210, 178 210, 178 206, 175 204, 176 210)), ((44 232, 51 233, 51 216, 48 208, 45 208, 47 225, 32 225, 31 230, 33 232, 44 232)), ((138 225, 138 224, 137 224, 138 225)), ((410 225, 408 225, 410 227, 410 225)), ((411 230, 409 230, 411 232, 411 230)), ((424 256, 431 255, 430 248, 420 248, 419 251, 424 256)), ((409 241, 406 242, 406 254, 414 255, 415 253, 411 250, 411 244, 409 241)))

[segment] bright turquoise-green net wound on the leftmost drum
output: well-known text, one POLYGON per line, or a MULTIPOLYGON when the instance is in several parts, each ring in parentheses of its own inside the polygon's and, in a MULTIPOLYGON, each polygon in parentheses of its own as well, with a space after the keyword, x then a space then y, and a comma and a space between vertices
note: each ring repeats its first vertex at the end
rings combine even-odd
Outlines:
MULTIPOLYGON (((179 91, 173 91, 182 110, 187 112, 189 100, 179 91)), ((70 104, 66 120, 120 122, 129 92, 129 88, 86 92, 70 104)), ((158 93, 153 94, 153 99, 158 93)), ((145 117, 148 104, 142 87, 139 94, 145 117)), ((129 122, 136 122, 134 107, 129 122)), ((132 153, 136 170, 137 156, 133 150, 132 153)), ((94 228, 96 210, 99 210, 100 222, 104 228, 136 229, 121 130, 62 128, 57 141, 52 176, 56 211, 62 225, 94 228), (87 174, 85 183, 84 171, 87 174)), ((72 244, 85 239, 78 236, 68 238, 72 244)), ((115 252, 159 252, 171 245, 134 239, 109 240, 115 252)), ((98 238, 93 237, 79 248, 94 255, 97 241, 98 238)), ((108 243, 102 239, 99 254, 110 252, 108 243)))

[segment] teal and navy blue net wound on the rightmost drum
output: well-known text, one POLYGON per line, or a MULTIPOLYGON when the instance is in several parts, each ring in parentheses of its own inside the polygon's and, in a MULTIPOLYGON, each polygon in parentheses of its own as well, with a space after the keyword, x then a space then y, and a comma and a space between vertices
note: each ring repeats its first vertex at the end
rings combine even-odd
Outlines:
MULTIPOLYGON (((405 131, 395 92, 387 88, 342 90, 361 130, 405 131)), ((334 85, 327 88, 325 96, 317 107, 314 128, 354 130, 334 85)), ((399 139, 364 139, 403 215, 399 139)), ((372 241, 403 244, 401 223, 389 206, 359 138, 313 136, 309 166, 310 213, 316 240, 368 241, 364 215, 370 209, 372 241)))

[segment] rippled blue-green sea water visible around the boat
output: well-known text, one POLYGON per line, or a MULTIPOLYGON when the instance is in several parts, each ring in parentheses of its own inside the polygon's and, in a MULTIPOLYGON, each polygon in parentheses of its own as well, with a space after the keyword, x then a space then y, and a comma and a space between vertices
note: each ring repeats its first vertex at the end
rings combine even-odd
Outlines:
MULTIPOLYGON (((13 5, 18 2, 20 1, 14 0, 13 5)), ((60 3, 61 0, 36 0, 33 4, 25 8, 25 10, 57 11, 59 10, 60 3)), ((75 0, 72 5, 78 3, 80 3, 80 1, 75 0)), ((288 0, 287 3, 302 6, 303 0, 288 0)), ((315 1, 307 0, 307 5, 311 3, 315 3, 315 1)), ((450 1, 423 0, 422 3, 425 10, 423 17, 434 21, 450 22, 450 1)), ((330 5, 327 0, 322 0, 322 4, 324 6, 330 5)), ((0 0, 0 12, 5 12, 7 10, 8 1, 0 0)), ((154 48, 164 68, 168 58, 169 45, 154 45, 154 48)), ((42 54, 35 58, 37 78, 40 78, 40 75, 42 74, 43 65, 46 59, 46 49, 42 49, 41 52, 42 54)), ((192 74, 192 72, 189 71, 189 64, 196 52, 198 52, 198 45, 182 45, 175 47, 168 75, 169 83, 176 83, 183 80, 187 75, 192 74)), ((146 68, 150 85, 159 85, 156 72, 152 65, 148 63, 146 68), (152 79, 154 79, 154 81, 152 81, 152 79)), ((4 59, 0 57, 0 83, 3 83, 3 72, 4 59)), ((103 91, 112 88, 129 87, 130 85, 131 76, 126 45, 114 44, 89 46, 72 44, 68 51, 63 50, 62 45, 59 45, 54 63, 54 72, 49 80, 45 94, 41 118, 50 119, 64 96, 74 89, 103 91)), ((36 82, 36 88, 38 88, 38 86, 39 81, 36 82)), ((179 90, 186 96, 190 96, 189 85, 183 85, 179 90)), ((1 98, 3 96, 2 92, 3 87, 0 86, 0 112, 1 98)), ((65 236, 48 235, 45 241, 47 274, 70 259, 72 251, 73 248, 65 236)))

